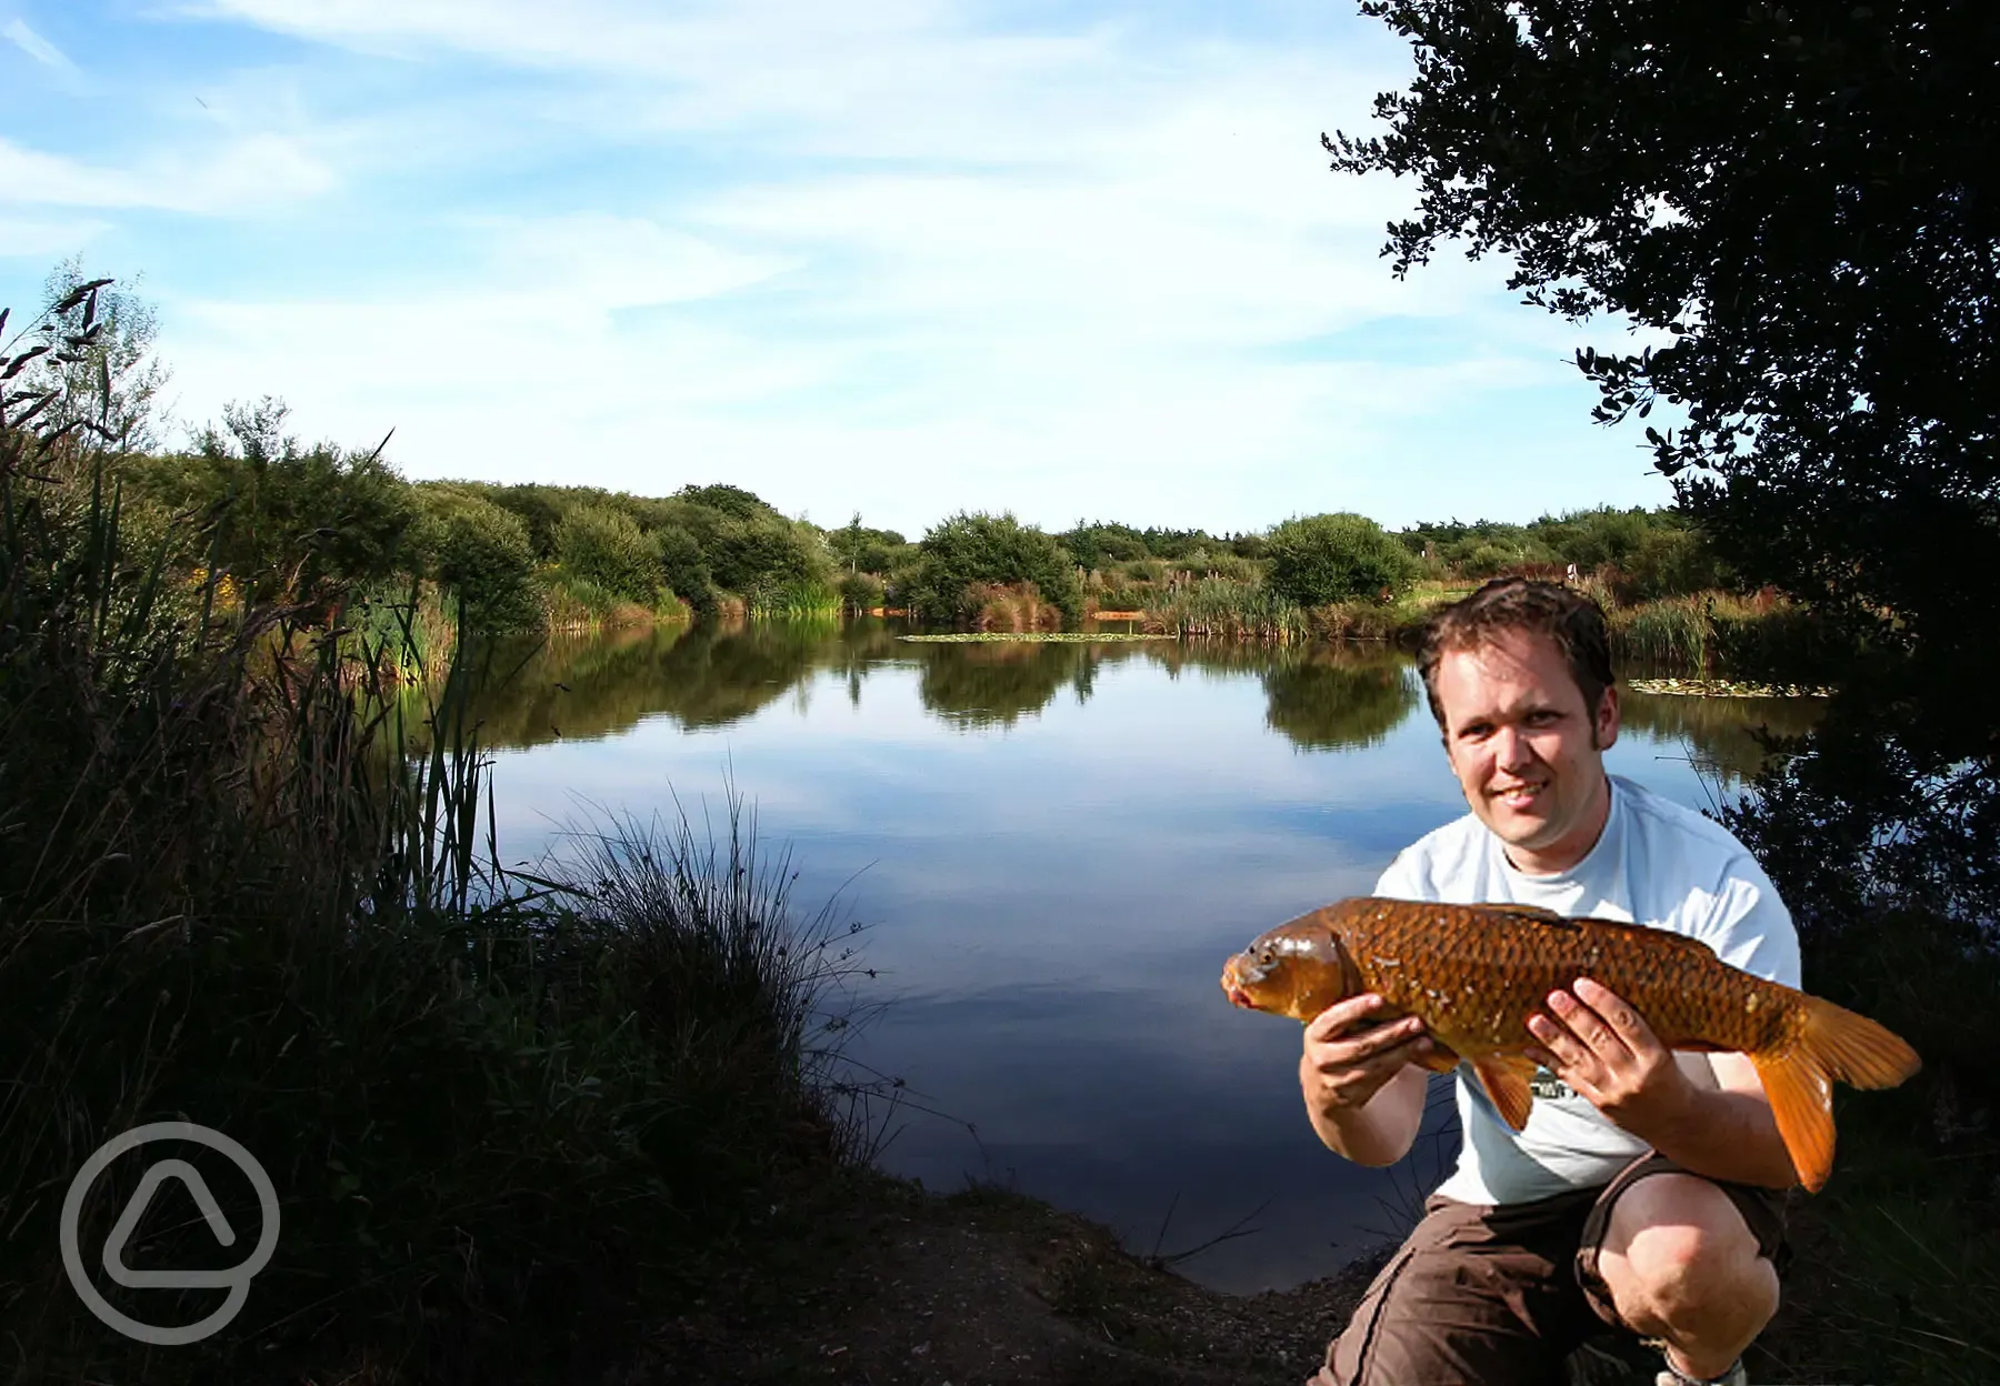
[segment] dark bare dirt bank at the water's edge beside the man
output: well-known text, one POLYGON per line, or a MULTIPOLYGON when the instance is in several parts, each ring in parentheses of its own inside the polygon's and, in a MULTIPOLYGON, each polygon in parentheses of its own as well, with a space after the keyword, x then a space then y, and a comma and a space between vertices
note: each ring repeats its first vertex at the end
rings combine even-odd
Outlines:
MULTIPOLYGON (((1826 1380, 1808 1364, 1828 1248, 1798 1196, 1792 1232, 1786 1308, 1750 1352, 1760 1382, 1826 1380)), ((1386 1254, 1286 1292, 1220 1294, 1020 1194, 862 1176, 774 1210, 704 1302, 604 1382, 1296 1386, 1386 1254)), ((1650 1386, 1644 1360, 1584 1354, 1568 1386, 1650 1386)))

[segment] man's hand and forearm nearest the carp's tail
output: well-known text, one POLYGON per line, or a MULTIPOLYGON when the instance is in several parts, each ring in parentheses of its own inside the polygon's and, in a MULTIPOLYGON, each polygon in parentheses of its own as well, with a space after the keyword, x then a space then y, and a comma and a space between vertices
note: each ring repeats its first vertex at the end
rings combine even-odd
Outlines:
POLYGON ((1714 1084, 1690 1078, 1652 1026, 1590 978, 1550 992, 1548 1014, 1530 1016, 1528 1030, 1546 1046, 1538 1062, 1666 1158, 1736 1184, 1798 1182, 1746 1056, 1710 1054, 1714 1084))

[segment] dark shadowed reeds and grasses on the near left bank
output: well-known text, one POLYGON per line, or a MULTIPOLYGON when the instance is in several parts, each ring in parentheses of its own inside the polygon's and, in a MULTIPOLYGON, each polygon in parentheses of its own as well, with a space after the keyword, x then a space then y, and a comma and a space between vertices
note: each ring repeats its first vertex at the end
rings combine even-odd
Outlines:
MULTIPOLYGON (((0 420, 14 406, 0 392, 0 420)), ((854 1154, 848 928, 798 916, 736 804, 706 852, 688 824, 620 822, 532 878, 502 866, 468 714, 504 672, 492 646, 460 630, 434 668, 408 614, 330 632, 320 610, 218 610, 214 564, 190 582, 166 540, 134 552, 176 526, 140 524, 110 476, 74 430, 0 424, 10 1372, 600 1370, 698 1292, 766 1180, 854 1154), (168 1118, 242 1142, 284 1218, 240 1316, 154 1352, 84 1312, 56 1222, 92 1150, 168 1118)), ((132 1164, 92 1186, 82 1246, 132 1164)), ((248 1190, 214 1192, 260 1226, 248 1190)), ((146 1238, 158 1264, 214 1252, 202 1222, 146 1238)), ((214 1308, 100 1288, 148 1322, 214 1308)))

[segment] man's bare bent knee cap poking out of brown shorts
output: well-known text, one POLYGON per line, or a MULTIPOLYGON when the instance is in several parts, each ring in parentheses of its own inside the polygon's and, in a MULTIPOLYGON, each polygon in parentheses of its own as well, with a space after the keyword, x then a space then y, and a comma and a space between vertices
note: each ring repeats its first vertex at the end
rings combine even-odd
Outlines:
POLYGON ((1726 1318, 1748 1334, 1778 1310, 1778 1272, 1728 1194, 1690 1174, 1640 1180, 1616 1202, 1598 1274, 1640 1332, 1726 1318))

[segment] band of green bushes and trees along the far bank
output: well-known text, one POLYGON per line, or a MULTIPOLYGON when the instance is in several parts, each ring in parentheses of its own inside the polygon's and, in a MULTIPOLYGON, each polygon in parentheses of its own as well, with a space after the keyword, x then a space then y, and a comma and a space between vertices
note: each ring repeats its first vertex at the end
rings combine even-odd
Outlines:
MULTIPOLYGON (((60 266, 50 302, 78 282, 74 264, 60 266)), ((164 382, 146 364, 152 312, 116 290, 102 298, 98 350, 116 358, 116 404, 144 420, 164 382)), ((1676 508, 1400 532, 1338 512, 1220 536, 1104 520, 1050 534, 1014 514, 960 512, 910 542, 860 514, 822 528, 732 484, 636 496, 410 482, 384 446, 308 444, 286 420, 264 398, 224 408, 178 448, 128 436, 138 446, 110 478, 128 520, 202 534, 200 552, 174 554, 176 570, 188 582, 218 574, 226 602, 310 606, 338 586, 352 596, 346 620, 422 664, 460 614, 486 632, 888 612, 968 632, 1074 632, 1104 618, 1188 640, 1404 640, 1486 578, 1570 570, 1640 666, 1814 680, 1848 654, 1788 596, 1752 590, 1676 508)))

